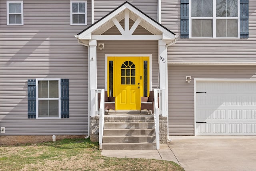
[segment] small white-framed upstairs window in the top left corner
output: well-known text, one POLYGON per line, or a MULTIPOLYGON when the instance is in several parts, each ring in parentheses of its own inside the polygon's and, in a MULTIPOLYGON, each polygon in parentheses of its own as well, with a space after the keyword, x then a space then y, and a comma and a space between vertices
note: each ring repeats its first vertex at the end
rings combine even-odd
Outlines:
POLYGON ((23 1, 6 1, 7 25, 23 25, 23 1))

